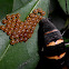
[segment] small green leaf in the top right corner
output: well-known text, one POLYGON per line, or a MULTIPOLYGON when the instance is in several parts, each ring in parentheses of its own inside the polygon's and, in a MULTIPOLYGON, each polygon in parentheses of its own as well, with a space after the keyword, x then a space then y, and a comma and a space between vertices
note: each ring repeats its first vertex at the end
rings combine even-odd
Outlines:
POLYGON ((59 4, 61 6, 62 10, 69 14, 69 0, 58 0, 59 4))

